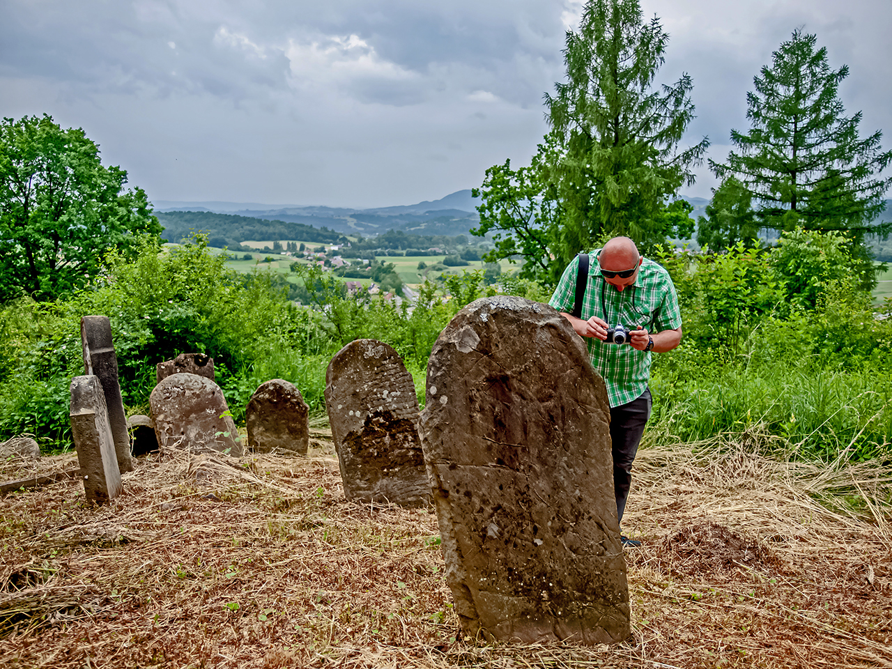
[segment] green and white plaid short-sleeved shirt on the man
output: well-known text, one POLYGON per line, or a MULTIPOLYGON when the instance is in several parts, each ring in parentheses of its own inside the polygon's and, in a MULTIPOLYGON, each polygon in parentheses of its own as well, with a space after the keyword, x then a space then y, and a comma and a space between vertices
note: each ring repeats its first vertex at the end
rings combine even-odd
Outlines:
MULTIPOLYGON (((582 300, 581 318, 588 320, 598 316, 610 327, 622 324, 626 329, 634 330, 644 326, 650 333, 681 327, 675 286, 663 267, 645 258, 635 283, 618 291, 601 276, 599 252, 600 249, 589 254, 589 285, 582 300)), ((578 269, 577 256, 567 265, 551 295, 549 305, 558 311, 573 312, 578 269)), ((637 351, 627 344, 605 343, 594 337, 585 337, 585 342, 592 366, 607 384, 611 407, 631 402, 647 390, 650 351, 637 351)))

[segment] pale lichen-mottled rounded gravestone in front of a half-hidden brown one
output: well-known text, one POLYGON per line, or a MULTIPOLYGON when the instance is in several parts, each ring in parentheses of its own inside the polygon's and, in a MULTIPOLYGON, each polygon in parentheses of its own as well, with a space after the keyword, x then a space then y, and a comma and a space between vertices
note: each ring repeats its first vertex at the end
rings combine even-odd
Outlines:
POLYGON ((204 376, 174 374, 149 395, 161 448, 242 455, 235 423, 219 386, 204 376))

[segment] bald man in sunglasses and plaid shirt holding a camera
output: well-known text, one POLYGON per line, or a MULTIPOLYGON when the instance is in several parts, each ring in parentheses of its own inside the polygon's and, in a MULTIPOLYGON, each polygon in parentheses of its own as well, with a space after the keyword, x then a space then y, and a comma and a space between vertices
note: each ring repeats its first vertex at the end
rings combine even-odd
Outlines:
MULTIPOLYGON (((628 237, 614 237, 591 254, 582 300, 582 318, 574 307, 579 258, 564 270, 549 304, 586 338, 591 364, 607 384, 610 440, 613 444, 616 516, 623 521, 632 485, 632 462, 651 409, 650 353, 672 351, 681 342, 681 312, 669 273, 640 256, 628 237), (624 326, 627 343, 607 343, 608 328, 624 326)), ((621 535, 624 546, 640 541, 621 535)))

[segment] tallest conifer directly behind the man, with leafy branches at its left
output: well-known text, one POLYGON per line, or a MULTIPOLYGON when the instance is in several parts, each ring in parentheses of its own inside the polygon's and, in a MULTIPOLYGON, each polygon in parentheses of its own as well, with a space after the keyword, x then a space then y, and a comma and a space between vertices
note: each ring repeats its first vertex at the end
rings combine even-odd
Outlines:
POLYGON ((691 168, 709 142, 679 150, 694 115, 687 74, 672 86, 653 87, 668 39, 656 17, 642 20, 638 0, 585 4, 579 31, 566 35, 567 80, 556 84, 554 96, 545 95, 551 129, 533 160, 536 174, 516 173, 518 186, 540 186, 533 194, 518 188, 524 218, 513 218, 516 203, 504 189, 493 189, 492 180, 480 191, 475 234, 508 230, 521 242, 518 249, 503 241, 485 260, 521 252, 554 280, 575 253, 605 236, 629 235, 645 252, 676 236, 665 228, 672 219, 665 217, 666 202, 694 182, 691 168), (529 211, 535 205, 546 208, 541 220, 529 211))

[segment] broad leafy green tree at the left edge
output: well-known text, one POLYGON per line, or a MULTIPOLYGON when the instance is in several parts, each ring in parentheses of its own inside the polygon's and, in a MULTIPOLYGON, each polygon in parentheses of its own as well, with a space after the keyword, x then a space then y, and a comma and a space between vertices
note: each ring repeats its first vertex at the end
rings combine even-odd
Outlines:
POLYGON ((133 257, 140 234, 161 226, 127 172, 104 167, 80 128, 47 114, 0 123, 0 300, 53 300, 85 285, 118 249, 133 257))

